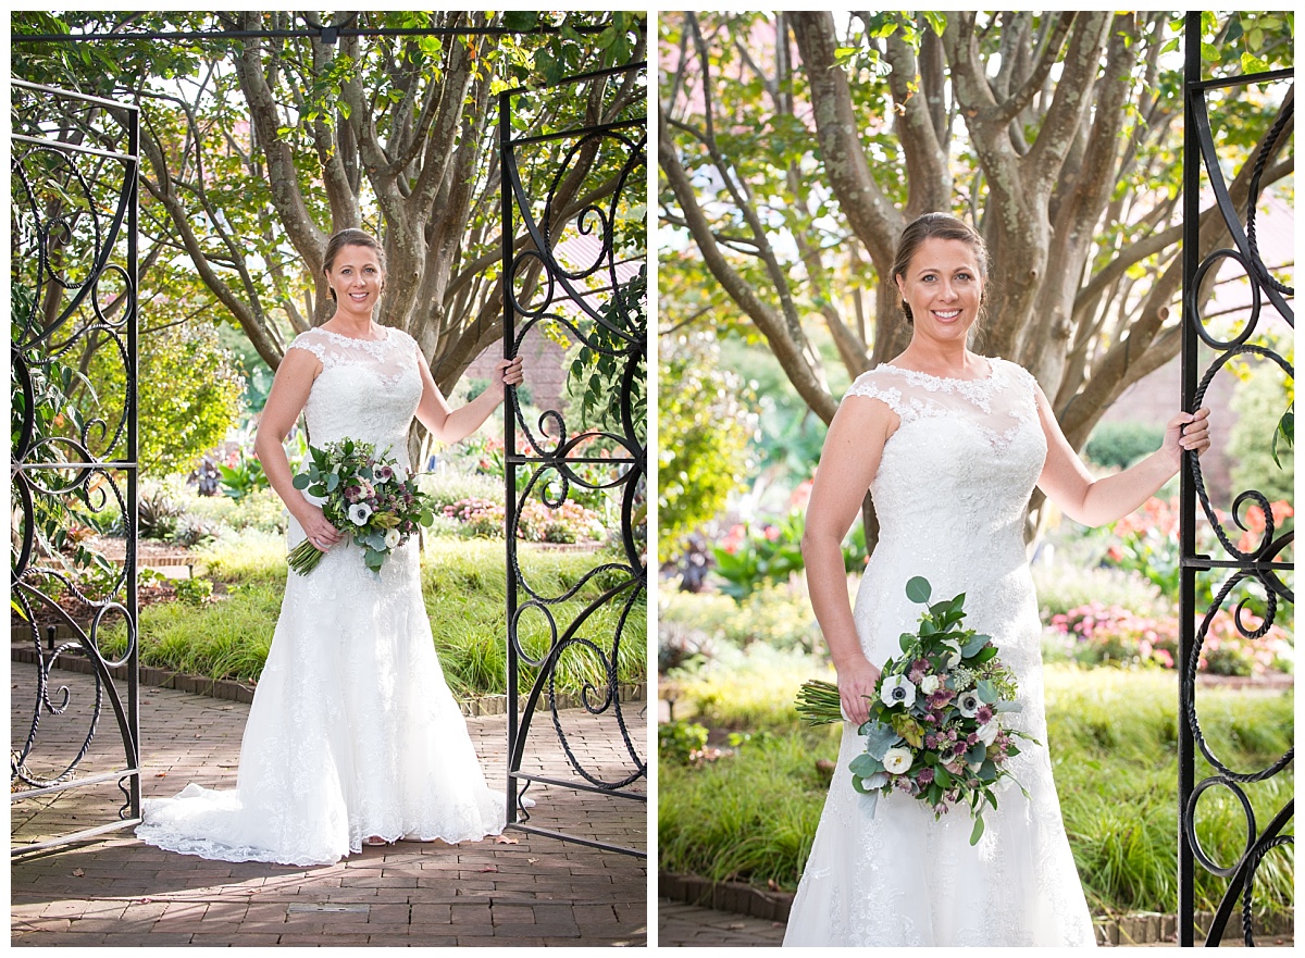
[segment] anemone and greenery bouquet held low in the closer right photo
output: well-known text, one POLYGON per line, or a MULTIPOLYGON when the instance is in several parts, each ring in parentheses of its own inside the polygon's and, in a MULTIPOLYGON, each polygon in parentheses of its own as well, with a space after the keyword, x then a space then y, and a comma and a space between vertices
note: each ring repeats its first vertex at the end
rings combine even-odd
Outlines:
MULTIPOLYGON (((902 634, 900 658, 883 663, 869 719, 857 730, 865 752, 850 766, 852 787, 868 796, 872 814, 878 796, 894 791, 927 801, 936 818, 966 804, 975 844, 984 805, 997 808, 997 783, 1014 782, 1006 762, 1019 754, 1015 739, 1037 741, 1002 720, 1019 711, 1015 676, 990 636, 962 628, 964 593, 929 606, 930 591, 921 576, 906 583, 907 598, 927 611, 916 632, 902 634)), ((838 687, 808 681, 797 693, 797 713, 813 726, 843 720, 838 687)))

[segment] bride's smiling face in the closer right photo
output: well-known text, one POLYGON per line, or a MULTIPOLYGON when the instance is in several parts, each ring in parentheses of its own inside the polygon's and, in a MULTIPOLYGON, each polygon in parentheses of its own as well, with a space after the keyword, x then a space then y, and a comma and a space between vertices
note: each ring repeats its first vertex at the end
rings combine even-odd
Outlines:
POLYGON ((964 341, 979 318, 983 279, 979 258, 968 243, 927 239, 897 282, 902 299, 911 307, 916 335, 964 341))

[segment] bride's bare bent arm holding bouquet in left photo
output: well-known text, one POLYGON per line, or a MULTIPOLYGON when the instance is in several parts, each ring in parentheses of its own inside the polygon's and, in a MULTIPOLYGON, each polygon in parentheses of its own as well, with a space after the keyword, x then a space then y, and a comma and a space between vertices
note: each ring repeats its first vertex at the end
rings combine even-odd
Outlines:
POLYGON ((282 445, 295 420, 308 402, 313 380, 321 372, 322 364, 308 350, 286 350, 277 377, 271 381, 271 392, 258 416, 258 432, 254 435, 253 449, 262 463, 271 488, 281 496, 290 514, 299 521, 304 534, 324 551, 341 540, 341 534, 322 516, 320 506, 313 505, 304 493, 295 488, 295 476, 290 471, 290 459, 282 445))

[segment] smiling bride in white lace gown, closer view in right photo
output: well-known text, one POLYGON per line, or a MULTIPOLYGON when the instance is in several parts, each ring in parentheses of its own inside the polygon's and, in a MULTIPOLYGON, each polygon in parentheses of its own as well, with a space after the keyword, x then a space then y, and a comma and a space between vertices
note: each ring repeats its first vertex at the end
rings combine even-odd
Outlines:
POLYGON ((812 606, 850 720, 784 945, 1092 945, 1047 752, 1024 512, 1036 484, 1084 525, 1126 516, 1174 475, 1184 450, 1208 448, 1208 410, 1174 415, 1156 453, 1094 480, 1034 377, 967 348, 983 313, 983 239, 953 217, 924 215, 906 228, 893 275, 911 343, 847 390, 806 512, 812 606), (867 488, 880 539, 853 611, 840 542, 867 488), (1011 724, 1041 743, 1009 764, 1030 797, 1004 792, 976 846, 964 807, 934 821, 925 803, 894 794, 872 812, 848 773, 865 750, 856 730, 880 666, 920 617, 906 596, 914 576, 936 596, 966 594, 967 628, 993 636, 1018 677, 1011 724))

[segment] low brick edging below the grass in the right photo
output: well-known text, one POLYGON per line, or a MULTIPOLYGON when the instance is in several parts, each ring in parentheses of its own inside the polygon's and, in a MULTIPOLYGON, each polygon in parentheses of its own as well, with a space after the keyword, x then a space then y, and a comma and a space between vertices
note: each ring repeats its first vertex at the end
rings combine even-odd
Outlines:
MULTIPOLYGON (((788 912, 793 904, 792 891, 766 891, 740 881, 711 881, 696 874, 671 874, 658 872, 658 895, 672 902, 698 904, 716 911, 729 911, 736 915, 752 915, 769 921, 788 923, 788 912)), ((1208 928, 1214 912, 1198 911, 1197 929, 1208 928)), ((1092 919, 1098 945, 1152 945, 1174 941, 1177 916, 1160 912, 1141 912, 1124 915, 1118 919, 1096 916, 1092 919)), ((1293 916, 1288 911, 1257 927, 1257 936, 1292 935, 1293 916)), ((1241 915, 1233 915, 1224 929, 1225 942, 1241 944, 1241 915)), ((1199 942, 1198 942, 1199 944, 1199 942)))

